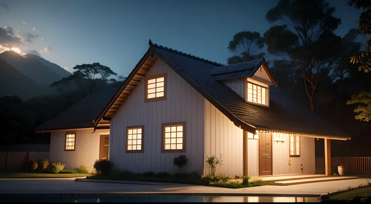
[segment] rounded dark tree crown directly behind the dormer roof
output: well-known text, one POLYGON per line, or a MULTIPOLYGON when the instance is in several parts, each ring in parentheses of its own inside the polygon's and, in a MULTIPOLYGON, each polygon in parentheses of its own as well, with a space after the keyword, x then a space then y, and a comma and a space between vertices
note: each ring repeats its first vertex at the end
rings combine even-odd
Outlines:
POLYGON ((258 32, 242 31, 233 36, 233 40, 229 42, 228 49, 238 53, 233 57, 228 58, 228 64, 247 62, 255 59, 263 58, 265 53, 256 52, 264 47, 264 39, 258 32))

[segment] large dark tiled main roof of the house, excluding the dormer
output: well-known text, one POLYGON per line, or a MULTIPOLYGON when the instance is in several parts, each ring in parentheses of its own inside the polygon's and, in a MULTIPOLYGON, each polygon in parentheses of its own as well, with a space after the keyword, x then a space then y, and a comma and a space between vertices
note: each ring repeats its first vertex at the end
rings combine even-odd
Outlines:
MULTIPOLYGON (((216 80, 210 74, 217 67, 222 70, 222 66, 224 65, 158 46, 157 44, 152 44, 151 41, 149 44, 150 48, 142 58, 142 62, 138 63, 136 68, 133 69, 126 83, 121 86, 110 103, 98 116, 96 125, 99 124, 99 121, 103 117, 106 117, 105 120, 113 117, 115 112, 125 102, 123 100, 120 101, 121 105, 115 105, 116 100, 121 97, 121 92, 127 90, 126 85, 136 76, 136 71, 141 70, 146 57, 153 56, 150 61, 154 60, 155 57, 159 57, 185 81, 198 90, 236 126, 246 131, 280 131, 316 136, 317 138, 350 139, 339 128, 334 127, 326 120, 295 103, 295 101, 277 87, 270 88, 270 107, 247 103, 236 92, 221 81, 216 80), (116 107, 112 109, 113 106, 116 107)), ((146 70, 148 71, 149 68, 146 70)), ((130 93, 128 94, 130 95, 130 93)))

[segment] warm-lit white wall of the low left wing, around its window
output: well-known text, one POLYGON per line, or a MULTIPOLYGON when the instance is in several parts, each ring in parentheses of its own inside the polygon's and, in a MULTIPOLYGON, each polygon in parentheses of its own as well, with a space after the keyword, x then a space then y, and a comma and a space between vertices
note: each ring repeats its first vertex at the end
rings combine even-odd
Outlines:
POLYGON ((66 132, 52 132, 50 136, 50 163, 63 162, 65 169, 76 170, 81 165, 88 165, 93 170, 94 161, 99 158, 100 134, 109 134, 109 130, 77 130, 75 151, 65 151, 66 132))

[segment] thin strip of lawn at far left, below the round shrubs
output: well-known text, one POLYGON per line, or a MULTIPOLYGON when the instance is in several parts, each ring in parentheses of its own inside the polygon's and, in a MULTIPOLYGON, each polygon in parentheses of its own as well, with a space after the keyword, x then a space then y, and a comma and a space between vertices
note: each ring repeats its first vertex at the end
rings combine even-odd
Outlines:
POLYGON ((74 170, 62 170, 59 173, 52 172, 2 172, 0 178, 74 178, 89 174, 75 173, 74 170))

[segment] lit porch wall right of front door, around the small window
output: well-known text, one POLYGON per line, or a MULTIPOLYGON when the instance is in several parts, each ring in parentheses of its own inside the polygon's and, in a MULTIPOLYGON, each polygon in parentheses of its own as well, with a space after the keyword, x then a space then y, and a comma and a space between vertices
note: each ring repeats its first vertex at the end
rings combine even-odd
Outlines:
POLYGON ((272 142, 273 175, 316 173, 315 139, 309 137, 300 137, 300 139, 298 157, 290 157, 288 137, 285 138, 285 142, 272 142), (300 164, 303 165, 302 170, 300 164))

